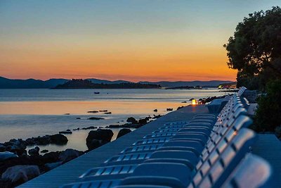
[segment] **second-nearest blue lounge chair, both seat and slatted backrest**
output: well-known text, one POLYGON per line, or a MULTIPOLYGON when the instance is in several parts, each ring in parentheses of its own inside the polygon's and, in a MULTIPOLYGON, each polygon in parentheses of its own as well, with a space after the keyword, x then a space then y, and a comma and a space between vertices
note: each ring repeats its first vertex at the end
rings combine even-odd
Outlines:
POLYGON ((208 160, 194 177, 190 174, 190 168, 182 163, 151 161, 138 165, 131 176, 121 182, 121 185, 155 184, 186 187, 190 184, 189 187, 221 187, 233 173, 236 164, 245 156, 254 138, 254 132, 244 128, 229 142, 226 139, 226 149, 221 153, 219 149, 210 153, 208 160))

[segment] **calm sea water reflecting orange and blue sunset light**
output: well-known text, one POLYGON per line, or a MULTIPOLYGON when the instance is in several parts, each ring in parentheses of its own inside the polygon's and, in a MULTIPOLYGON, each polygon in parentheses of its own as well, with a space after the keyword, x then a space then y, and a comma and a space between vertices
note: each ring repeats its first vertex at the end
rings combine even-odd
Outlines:
MULTIPOLYGON (((191 98, 223 94, 217 89, 0 89, 0 142, 55 134, 77 127, 122 124, 130 116, 145 118, 148 115, 163 115, 166 108, 176 109, 190 104, 191 98), (153 112, 155 108, 157 113, 153 112), (98 110, 107 110, 112 114, 87 113, 98 110), (105 119, 88 120, 90 117, 105 119)), ((67 148, 84 151, 87 149, 85 139, 89 131, 73 131, 73 134, 66 135, 69 142, 65 146, 40 148, 50 151, 67 148)), ((112 139, 115 139, 119 130, 113 131, 115 136, 112 139)))

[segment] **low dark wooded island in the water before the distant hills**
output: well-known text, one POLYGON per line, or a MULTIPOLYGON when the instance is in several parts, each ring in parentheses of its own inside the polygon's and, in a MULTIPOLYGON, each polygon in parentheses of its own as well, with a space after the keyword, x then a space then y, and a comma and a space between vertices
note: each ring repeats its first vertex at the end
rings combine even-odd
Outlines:
POLYGON ((90 80, 72 79, 65 84, 58 84, 52 89, 160 89, 158 84, 140 84, 123 82, 119 84, 95 84, 90 80))

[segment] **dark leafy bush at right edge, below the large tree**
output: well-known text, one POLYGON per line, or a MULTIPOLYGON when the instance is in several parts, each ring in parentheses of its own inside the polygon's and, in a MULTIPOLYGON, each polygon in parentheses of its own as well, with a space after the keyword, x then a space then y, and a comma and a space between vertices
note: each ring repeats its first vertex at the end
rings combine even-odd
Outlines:
POLYGON ((259 108, 254 118, 254 130, 258 132, 275 131, 281 125, 281 80, 266 86, 266 95, 261 96, 259 108))

